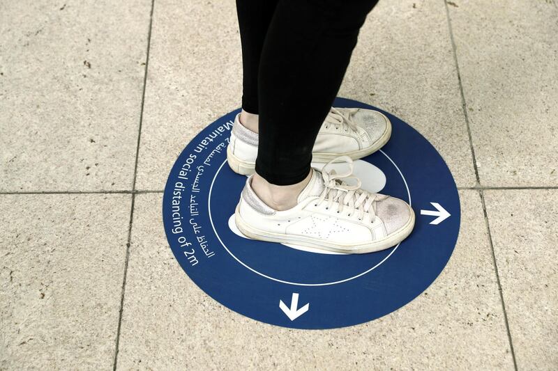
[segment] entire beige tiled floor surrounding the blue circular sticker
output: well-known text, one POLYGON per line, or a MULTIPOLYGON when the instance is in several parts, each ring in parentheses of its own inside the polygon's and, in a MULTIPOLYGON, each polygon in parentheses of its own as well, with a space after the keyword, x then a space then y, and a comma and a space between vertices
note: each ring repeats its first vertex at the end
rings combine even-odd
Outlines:
POLYGON ((176 156, 239 106, 234 1, 0 3, 0 370, 556 370, 556 19, 380 1, 340 95, 439 150, 458 244, 391 315, 293 331, 206 296, 161 221, 176 156))

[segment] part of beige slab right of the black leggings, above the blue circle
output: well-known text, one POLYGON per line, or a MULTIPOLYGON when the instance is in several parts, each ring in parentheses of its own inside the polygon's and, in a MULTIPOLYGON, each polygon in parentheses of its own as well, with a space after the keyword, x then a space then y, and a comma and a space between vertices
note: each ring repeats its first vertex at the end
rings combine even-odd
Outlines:
POLYGON ((443 1, 379 1, 340 95, 398 116, 435 146, 458 187, 476 184, 443 1))

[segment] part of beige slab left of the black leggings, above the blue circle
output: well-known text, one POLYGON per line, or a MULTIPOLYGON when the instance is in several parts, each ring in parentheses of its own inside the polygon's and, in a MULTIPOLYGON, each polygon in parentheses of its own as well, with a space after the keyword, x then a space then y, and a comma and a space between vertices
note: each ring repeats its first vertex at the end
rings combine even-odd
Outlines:
POLYGON ((163 189, 186 144, 241 105, 241 68, 234 1, 156 1, 137 189, 163 189))

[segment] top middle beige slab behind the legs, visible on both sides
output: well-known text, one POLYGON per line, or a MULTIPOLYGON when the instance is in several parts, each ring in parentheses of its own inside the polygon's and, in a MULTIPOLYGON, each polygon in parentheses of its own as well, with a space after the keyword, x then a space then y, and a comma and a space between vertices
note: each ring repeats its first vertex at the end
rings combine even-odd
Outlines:
MULTIPOLYGON (((372 11, 339 95, 406 120, 442 152, 458 186, 472 187, 444 4, 415 3, 417 8, 412 1, 380 2, 372 11)), ((195 134, 240 106, 241 67, 234 1, 157 1, 139 189, 163 189, 174 160, 195 134)))

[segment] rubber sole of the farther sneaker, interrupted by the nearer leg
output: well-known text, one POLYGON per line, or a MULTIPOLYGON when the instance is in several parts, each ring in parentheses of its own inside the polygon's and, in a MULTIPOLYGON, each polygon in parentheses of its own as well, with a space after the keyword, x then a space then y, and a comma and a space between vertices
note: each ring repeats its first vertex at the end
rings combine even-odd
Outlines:
MULTIPOLYGON (((380 136, 380 138, 371 147, 345 153, 312 152, 312 162, 326 163, 340 156, 349 156, 351 157, 351 159, 361 159, 368 155, 372 155, 372 153, 384 147, 384 145, 386 145, 386 143, 388 143, 389 139, 391 138, 391 122, 389 121, 389 118, 387 118, 383 113, 378 113, 384 116, 389 125, 387 125, 387 129, 384 134, 382 134, 382 136, 380 136)), ((232 171, 237 174, 252 175, 253 173, 255 173, 255 162, 244 161, 243 159, 236 157, 232 153, 230 145, 227 146, 227 162, 232 171)))

